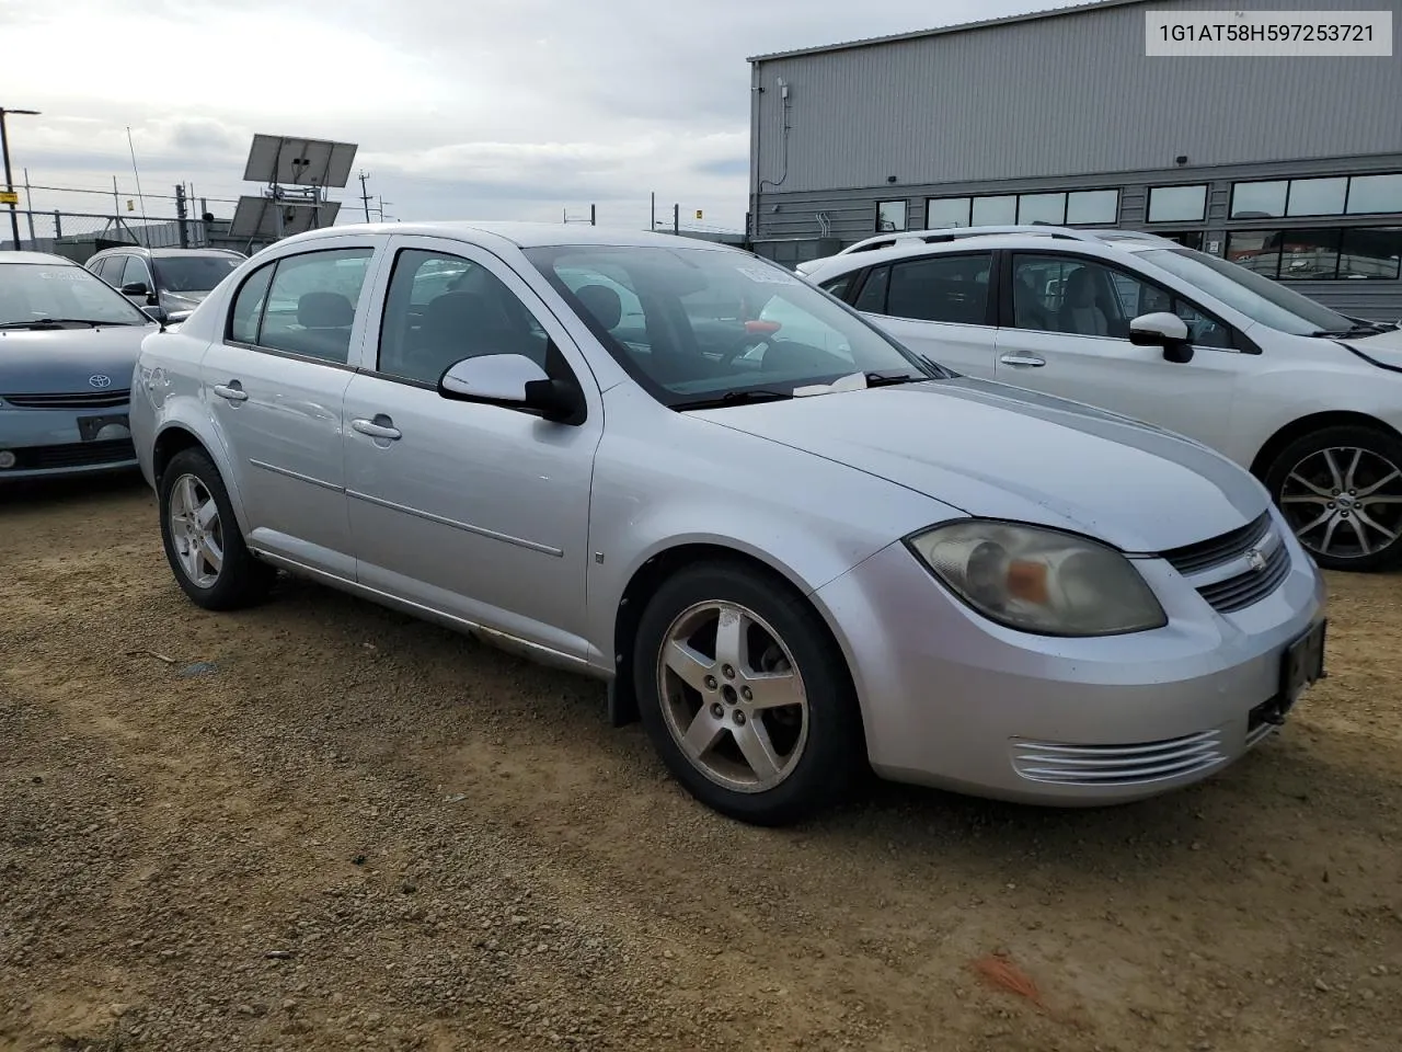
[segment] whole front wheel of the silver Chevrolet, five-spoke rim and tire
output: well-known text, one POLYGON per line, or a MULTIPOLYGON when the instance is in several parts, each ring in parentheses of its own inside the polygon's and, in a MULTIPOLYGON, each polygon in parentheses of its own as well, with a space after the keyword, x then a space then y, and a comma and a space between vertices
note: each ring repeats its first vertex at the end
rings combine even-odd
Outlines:
POLYGON ((862 757, 847 669, 816 612, 715 562, 662 585, 642 616, 634 682, 667 767, 708 807, 787 825, 833 802, 862 757))

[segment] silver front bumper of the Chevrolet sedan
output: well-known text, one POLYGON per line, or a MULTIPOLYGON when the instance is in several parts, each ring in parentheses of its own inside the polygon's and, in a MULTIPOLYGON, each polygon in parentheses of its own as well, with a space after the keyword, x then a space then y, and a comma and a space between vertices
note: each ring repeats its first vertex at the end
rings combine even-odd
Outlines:
POLYGON ((1060 807, 1119 804, 1210 777, 1266 738, 1286 649, 1325 613, 1294 537, 1270 595, 1232 614, 1168 562, 1141 572, 1164 628, 1049 638, 953 599, 903 544, 817 591, 857 686, 875 771, 1060 807))

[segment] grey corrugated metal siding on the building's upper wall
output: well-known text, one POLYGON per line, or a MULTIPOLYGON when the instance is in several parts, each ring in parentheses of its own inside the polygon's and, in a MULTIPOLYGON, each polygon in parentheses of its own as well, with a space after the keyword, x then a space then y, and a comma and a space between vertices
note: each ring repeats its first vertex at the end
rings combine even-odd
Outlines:
MULTIPOLYGON (((1377 0, 1368 4, 1373 7, 1377 0)), ((1152 10, 1223 10, 1169 0, 1152 10)), ((1269 0, 1266 10, 1357 10, 1269 0)), ((1402 22, 1402 0, 1382 0, 1402 22)), ((1402 151, 1394 58, 1148 59, 1143 6, 756 63, 757 170, 785 191, 1402 151)), ((767 188, 768 189, 768 188, 767 188)))

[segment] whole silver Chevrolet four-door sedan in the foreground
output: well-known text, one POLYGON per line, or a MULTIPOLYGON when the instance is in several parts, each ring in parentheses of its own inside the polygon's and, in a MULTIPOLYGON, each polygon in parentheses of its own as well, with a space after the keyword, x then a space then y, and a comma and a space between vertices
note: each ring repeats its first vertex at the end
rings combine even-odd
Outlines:
POLYGON ((280 568, 599 676, 615 722, 747 822, 864 764, 1148 797, 1323 672, 1323 585, 1246 471, 958 376, 722 245, 289 237, 146 338, 130 421, 199 606, 280 568))

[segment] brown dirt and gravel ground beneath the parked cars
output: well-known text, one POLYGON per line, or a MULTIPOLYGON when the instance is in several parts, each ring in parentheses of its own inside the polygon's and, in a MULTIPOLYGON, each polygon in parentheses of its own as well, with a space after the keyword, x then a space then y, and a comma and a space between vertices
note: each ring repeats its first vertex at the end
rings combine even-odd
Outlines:
POLYGON ((1330 679, 1200 787, 767 832, 597 683, 205 614, 140 483, 0 494, 0 1049, 1395 1052, 1402 578, 1329 584, 1330 679))

